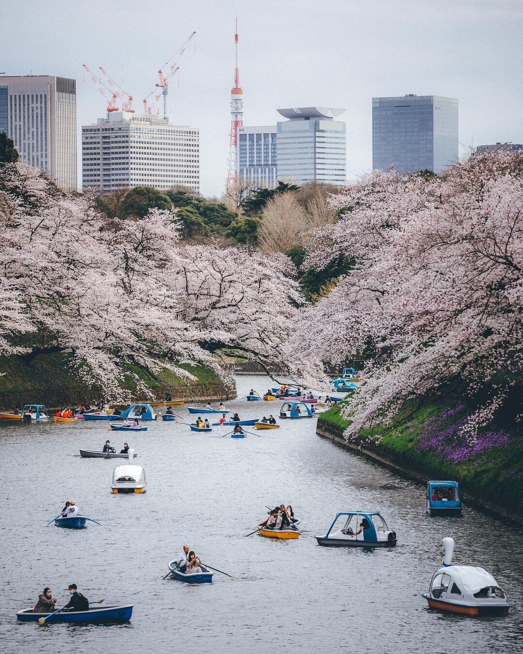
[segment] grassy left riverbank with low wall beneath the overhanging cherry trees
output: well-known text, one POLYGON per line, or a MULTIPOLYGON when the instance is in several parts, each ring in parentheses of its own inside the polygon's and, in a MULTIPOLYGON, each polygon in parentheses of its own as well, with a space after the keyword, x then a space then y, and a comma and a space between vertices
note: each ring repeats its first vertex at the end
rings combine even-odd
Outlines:
MULTIPOLYGON (((138 366, 128 365, 124 370, 122 388, 127 391, 131 402, 163 399, 165 393, 193 402, 215 402, 236 396, 235 388, 226 388, 209 368, 185 364, 180 368, 197 379, 188 381, 165 369, 152 376, 138 366), (151 392, 144 392, 141 385, 146 385, 151 392)), ((19 356, 0 358, 0 409, 10 411, 31 402, 49 408, 78 406, 97 403, 101 398, 103 390, 97 385, 83 383, 67 354, 41 354, 31 362, 19 356)))

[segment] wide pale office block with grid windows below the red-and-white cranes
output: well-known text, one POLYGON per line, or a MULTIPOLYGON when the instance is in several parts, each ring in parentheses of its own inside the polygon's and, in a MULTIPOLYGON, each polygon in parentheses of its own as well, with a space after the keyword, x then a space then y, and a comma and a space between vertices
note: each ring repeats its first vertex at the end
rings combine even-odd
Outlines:
POLYGON ((134 186, 199 192, 199 130, 169 116, 110 112, 82 126, 83 188, 102 192, 134 186))

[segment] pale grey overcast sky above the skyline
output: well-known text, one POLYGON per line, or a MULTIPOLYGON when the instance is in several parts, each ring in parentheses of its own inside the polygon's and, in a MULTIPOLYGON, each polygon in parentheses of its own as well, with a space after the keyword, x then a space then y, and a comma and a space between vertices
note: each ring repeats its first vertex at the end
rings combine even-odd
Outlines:
POLYGON ((275 124, 281 107, 344 107, 349 179, 372 165, 373 96, 457 97, 462 154, 523 142, 523 0, 2 0, 0 71, 76 78, 80 128, 105 115, 82 63, 118 78, 123 66, 138 111, 196 30, 168 112, 199 127, 201 192, 221 195, 235 16, 244 124, 275 124))

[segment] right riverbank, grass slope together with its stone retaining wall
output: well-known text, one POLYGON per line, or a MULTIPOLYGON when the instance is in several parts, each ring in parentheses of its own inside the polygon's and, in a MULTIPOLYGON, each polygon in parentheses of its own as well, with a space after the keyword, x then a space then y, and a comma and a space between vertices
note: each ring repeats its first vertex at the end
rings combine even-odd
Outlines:
POLYGON ((376 428, 373 436, 379 436, 379 442, 368 434, 347 442, 343 432, 349 423, 340 410, 341 406, 335 405, 320 415, 319 436, 423 484, 429 479, 455 479, 465 504, 523 524, 523 452, 517 443, 492 447, 463 462, 450 462, 420 449, 422 425, 439 415, 443 407, 430 405, 413 411, 408 421, 393 430, 379 433, 380 428, 376 428))

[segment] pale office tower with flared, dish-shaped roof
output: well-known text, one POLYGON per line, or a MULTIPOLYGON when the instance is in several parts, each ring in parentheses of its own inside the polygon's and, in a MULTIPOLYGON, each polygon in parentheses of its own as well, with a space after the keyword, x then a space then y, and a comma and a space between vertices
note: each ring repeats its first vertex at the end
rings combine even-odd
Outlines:
POLYGON ((278 180, 305 184, 346 181, 345 109, 278 109, 289 120, 277 123, 278 180))

